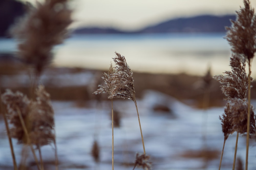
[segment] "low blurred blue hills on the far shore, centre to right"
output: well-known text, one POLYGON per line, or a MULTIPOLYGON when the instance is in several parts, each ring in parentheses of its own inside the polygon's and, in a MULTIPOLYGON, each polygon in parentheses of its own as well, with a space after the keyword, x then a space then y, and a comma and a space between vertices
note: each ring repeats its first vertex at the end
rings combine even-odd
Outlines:
POLYGON ((182 33, 182 32, 225 32, 230 27, 230 19, 236 20, 236 15, 213 16, 201 15, 188 18, 171 19, 139 31, 125 32, 114 28, 80 28, 74 31, 78 34, 127 34, 127 33, 182 33))

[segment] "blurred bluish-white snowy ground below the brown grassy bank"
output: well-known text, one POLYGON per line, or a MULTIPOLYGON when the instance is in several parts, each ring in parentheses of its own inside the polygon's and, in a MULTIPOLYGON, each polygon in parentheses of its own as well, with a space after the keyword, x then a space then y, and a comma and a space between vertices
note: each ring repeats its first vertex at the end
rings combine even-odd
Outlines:
MULTIPOLYGON (((83 108, 77 107, 75 102, 54 101, 52 104, 55 110, 59 169, 111 169, 111 102, 104 101, 97 105, 96 101, 88 101, 83 108), (95 163, 90 154, 94 137, 100 145, 99 163, 95 163)), ((224 138, 219 120, 219 115, 223 113, 222 107, 195 109, 156 91, 146 91, 137 105, 145 150, 152 157, 153 169, 218 169, 224 138), (157 104, 164 104, 171 112, 154 111, 153 107, 157 104), (202 138, 204 132, 207 132, 206 141, 202 138), (203 146, 207 146, 208 150, 218 151, 217 158, 206 162, 196 156, 183 156, 188 151, 200 151, 203 146)), ((122 115, 121 126, 114 128, 114 168, 132 169, 135 154, 143 152, 136 108, 131 100, 118 100, 114 101, 114 110, 122 115)), ((0 129, 0 169, 12 169, 3 120, 0 121, 0 129)), ((236 134, 229 136, 226 141, 221 166, 223 170, 232 168, 235 141, 236 134)), ((16 144, 16 140, 13 142, 19 162, 21 146, 16 144)), ((249 170, 256 169, 256 147, 253 145, 255 142, 251 141, 249 170)), ((245 148, 246 139, 240 136, 237 158, 240 157, 243 164, 245 148)), ((42 154, 45 162, 54 159, 54 151, 50 146, 44 146, 42 154)), ((30 156, 27 162, 33 162, 33 157, 30 156)), ((52 165, 46 167, 45 169, 54 169, 52 165)))

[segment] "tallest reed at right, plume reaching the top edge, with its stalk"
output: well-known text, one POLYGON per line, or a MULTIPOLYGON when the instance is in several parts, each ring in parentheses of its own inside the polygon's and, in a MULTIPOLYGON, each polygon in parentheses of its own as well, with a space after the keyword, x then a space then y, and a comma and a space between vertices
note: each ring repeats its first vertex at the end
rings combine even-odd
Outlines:
POLYGON ((256 51, 256 15, 249 0, 244 0, 244 8, 236 11, 236 21, 231 21, 231 27, 227 27, 226 39, 231 45, 231 51, 248 63, 248 113, 247 113, 247 139, 246 139, 246 164, 248 169, 249 134, 250 134, 250 100, 251 100, 251 62, 256 51))

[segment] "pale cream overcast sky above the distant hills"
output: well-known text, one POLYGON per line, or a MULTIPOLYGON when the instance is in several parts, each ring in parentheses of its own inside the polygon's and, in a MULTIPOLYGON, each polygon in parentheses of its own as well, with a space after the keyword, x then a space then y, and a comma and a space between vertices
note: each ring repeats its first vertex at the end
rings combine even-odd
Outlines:
MULTIPOLYGON (((20 0, 25 1, 25 0, 20 0)), ((36 0, 29 0, 34 3, 36 0)), ((43 0, 39 0, 43 1, 43 0)), ((256 0, 251 0, 256 7, 256 0)), ((71 27, 102 26, 136 30, 175 17, 234 14, 242 0, 71 0, 71 27)))

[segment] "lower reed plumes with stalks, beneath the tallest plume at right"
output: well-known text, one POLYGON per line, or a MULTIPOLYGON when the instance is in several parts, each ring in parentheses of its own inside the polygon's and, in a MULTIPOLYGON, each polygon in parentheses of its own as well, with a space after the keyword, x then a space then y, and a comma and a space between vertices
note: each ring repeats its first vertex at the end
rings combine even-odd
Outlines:
MULTIPOLYGON (((245 59, 239 58, 237 55, 232 54, 230 57, 231 71, 225 71, 226 75, 214 76, 217 81, 221 84, 222 93, 225 95, 225 100, 228 100, 226 107, 224 109, 224 114, 220 117, 222 122, 222 132, 224 133, 224 143, 221 153, 221 160, 219 169, 221 166, 223 150, 225 147, 225 142, 228 136, 234 132, 237 132, 236 146, 234 153, 233 169, 235 168, 236 162, 236 151, 238 136, 240 134, 247 133, 247 112, 248 106, 250 105, 246 93, 248 90, 248 79, 252 81, 252 77, 246 74, 245 71, 245 59)), ((250 105, 250 124, 252 126, 250 133, 255 133, 255 115, 253 112, 253 107, 250 105)))

